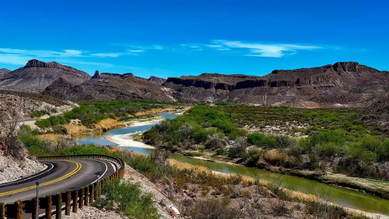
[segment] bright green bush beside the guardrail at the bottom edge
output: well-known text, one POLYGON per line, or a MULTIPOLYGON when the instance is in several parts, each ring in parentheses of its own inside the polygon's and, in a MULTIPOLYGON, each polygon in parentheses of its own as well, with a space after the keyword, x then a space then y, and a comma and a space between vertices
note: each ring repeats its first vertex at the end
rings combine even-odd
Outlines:
POLYGON ((93 203, 98 208, 117 210, 134 219, 159 219, 151 193, 144 193, 139 185, 115 179, 104 184, 102 196, 93 203))

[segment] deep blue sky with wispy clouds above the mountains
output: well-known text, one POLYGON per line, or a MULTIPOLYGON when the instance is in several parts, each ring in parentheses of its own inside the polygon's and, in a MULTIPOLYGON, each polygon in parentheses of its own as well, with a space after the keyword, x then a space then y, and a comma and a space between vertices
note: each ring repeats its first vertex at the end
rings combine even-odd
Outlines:
POLYGON ((356 61, 389 70, 384 1, 3 1, 0 68, 56 61, 89 74, 273 69, 356 61))

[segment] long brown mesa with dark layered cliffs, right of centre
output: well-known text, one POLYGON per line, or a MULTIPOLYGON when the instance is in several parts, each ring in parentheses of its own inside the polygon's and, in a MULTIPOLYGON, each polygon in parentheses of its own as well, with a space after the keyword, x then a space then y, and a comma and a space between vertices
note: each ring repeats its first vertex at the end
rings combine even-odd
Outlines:
POLYGON ((265 76, 203 73, 168 78, 163 84, 189 102, 229 101, 263 106, 358 107, 380 92, 389 92, 389 74, 357 62, 294 70, 265 76))

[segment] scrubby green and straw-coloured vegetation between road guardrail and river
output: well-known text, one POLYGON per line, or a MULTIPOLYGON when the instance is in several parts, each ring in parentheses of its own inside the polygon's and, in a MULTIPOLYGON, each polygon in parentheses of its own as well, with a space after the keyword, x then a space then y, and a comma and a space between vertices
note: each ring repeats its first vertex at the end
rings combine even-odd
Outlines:
MULTIPOLYGON (((224 118, 223 115, 221 117, 224 118)), ((238 128, 235 131, 241 132, 238 128)), ((150 155, 143 155, 93 144, 78 145, 71 136, 65 135, 56 141, 42 140, 39 134, 42 134, 41 131, 32 129, 28 125, 22 125, 19 131, 13 132, 18 145, 30 157, 66 154, 110 154, 121 157, 126 164, 142 173, 157 186, 159 185, 161 192, 175 201, 183 217, 193 219, 369 218, 364 214, 356 214, 332 205, 329 193, 322 195, 318 192, 317 196, 306 195, 294 191, 293 184, 282 185, 281 180, 263 181, 260 173, 256 178, 236 174, 217 174, 201 166, 168 159, 168 154, 160 147, 161 145, 157 145, 156 150, 150 155)), ((239 136, 236 139, 239 139, 239 136)), ((117 180, 113 184, 107 184, 102 194, 102 198, 95 203, 96 207, 116 210, 135 219, 159 218, 152 195, 142 194, 137 184, 117 180)), ((163 206, 163 200, 157 201, 163 206)))

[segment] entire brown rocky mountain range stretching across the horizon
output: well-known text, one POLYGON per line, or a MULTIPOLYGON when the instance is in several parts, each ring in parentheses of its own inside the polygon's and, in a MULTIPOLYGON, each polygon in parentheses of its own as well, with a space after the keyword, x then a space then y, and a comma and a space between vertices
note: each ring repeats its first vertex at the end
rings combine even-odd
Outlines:
POLYGON ((265 76, 203 73, 167 79, 98 71, 89 76, 66 65, 39 60, 30 60, 11 72, 1 72, 4 73, 0 73, 0 88, 35 90, 70 100, 236 102, 314 108, 363 107, 389 96, 389 72, 357 62, 274 70, 265 76))

